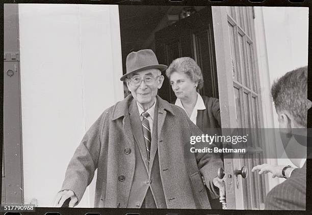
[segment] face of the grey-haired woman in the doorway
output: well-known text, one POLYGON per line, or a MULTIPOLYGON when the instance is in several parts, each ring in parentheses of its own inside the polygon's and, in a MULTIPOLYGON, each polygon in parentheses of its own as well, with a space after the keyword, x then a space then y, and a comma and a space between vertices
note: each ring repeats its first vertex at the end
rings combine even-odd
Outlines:
POLYGON ((183 72, 173 72, 170 75, 170 84, 176 98, 183 100, 196 93, 197 85, 191 78, 183 72))

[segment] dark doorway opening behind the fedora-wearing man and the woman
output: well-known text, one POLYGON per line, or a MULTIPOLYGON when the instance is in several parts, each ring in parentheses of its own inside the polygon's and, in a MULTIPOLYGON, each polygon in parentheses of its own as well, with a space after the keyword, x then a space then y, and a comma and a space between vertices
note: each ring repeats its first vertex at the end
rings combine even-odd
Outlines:
MULTIPOLYGON (((209 7, 192 7, 193 13, 180 16, 185 6, 119 6, 123 74, 128 53, 151 49, 159 64, 169 66, 178 57, 192 57, 201 68, 204 86, 198 93, 219 98, 212 13, 209 7)), ((169 80, 159 96, 174 104, 176 97, 169 80)))

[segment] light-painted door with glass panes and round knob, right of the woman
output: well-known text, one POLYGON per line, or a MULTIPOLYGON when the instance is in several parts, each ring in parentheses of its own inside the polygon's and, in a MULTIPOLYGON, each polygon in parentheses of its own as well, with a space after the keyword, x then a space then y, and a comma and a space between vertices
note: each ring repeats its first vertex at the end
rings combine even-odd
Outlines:
MULTIPOLYGON (((251 173, 263 163, 265 146, 252 7, 212 7, 223 129, 252 129, 248 153, 224 159, 228 209, 264 209, 265 177, 251 173), (221 81, 222 80, 222 81, 221 81), (246 167, 243 178, 237 170, 246 167), (229 175, 231 177, 229 177, 229 175)), ((250 131, 250 130, 249 130, 250 131)))

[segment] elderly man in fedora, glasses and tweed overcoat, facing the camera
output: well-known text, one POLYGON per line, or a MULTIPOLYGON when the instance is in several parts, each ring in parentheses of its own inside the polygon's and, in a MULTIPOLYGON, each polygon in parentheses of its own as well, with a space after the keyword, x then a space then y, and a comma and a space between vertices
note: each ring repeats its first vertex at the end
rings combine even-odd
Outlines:
POLYGON ((95 207, 211 208, 206 186, 217 197, 222 161, 213 153, 190 153, 201 131, 184 110, 157 96, 167 66, 152 50, 128 54, 131 95, 105 110, 71 159, 54 205, 76 205, 97 169, 95 207), (215 181, 215 182, 213 182, 215 181))

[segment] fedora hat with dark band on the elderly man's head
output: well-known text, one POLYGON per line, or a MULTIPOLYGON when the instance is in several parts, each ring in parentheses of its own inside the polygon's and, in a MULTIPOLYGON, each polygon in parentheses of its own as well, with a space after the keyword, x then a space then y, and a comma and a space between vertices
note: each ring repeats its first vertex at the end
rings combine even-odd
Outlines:
POLYGON ((149 69, 164 71, 167 66, 158 64, 155 53, 150 49, 133 51, 126 58, 126 74, 120 80, 124 81, 127 75, 149 69))

